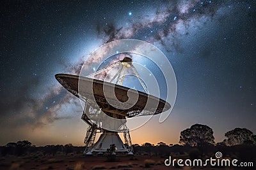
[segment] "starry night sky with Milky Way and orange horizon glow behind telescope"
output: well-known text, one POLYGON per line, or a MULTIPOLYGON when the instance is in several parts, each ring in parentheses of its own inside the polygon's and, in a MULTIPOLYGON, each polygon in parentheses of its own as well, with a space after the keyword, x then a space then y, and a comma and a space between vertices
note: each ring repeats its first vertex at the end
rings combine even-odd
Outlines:
POLYGON ((0 145, 83 146, 83 108, 54 75, 78 75, 96 48, 125 38, 157 46, 177 78, 170 116, 131 131, 132 143, 178 143, 197 123, 209 125, 216 142, 236 127, 256 133, 254 0, 1 1, 0 8, 0 145))

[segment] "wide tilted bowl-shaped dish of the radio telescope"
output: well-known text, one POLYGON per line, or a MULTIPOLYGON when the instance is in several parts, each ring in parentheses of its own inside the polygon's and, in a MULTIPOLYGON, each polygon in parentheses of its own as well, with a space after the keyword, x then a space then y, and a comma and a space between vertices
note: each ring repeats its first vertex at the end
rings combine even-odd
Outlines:
MULTIPOLYGON (((61 83, 68 92, 74 94, 74 96, 79 97, 84 102, 90 101, 91 103, 99 106, 99 108, 104 111, 107 115, 116 114, 116 116, 120 116, 120 118, 125 117, 135 117, 135 116, 143 116, 143 115, 157 115, 162 113, 163 111, 169 110, 171 108, 170 104, 166 101, 154 97, 150 94, 146 94, 144 92, 140 92, 134 89, 129 89, 127 87, 116 85, 109 82, 104 82, 101 80, 96 80, 87 77, 75 76, 71 74, 56 74, 55 78, 61 83), (79 90, 78 92, 78 81, 82 83, 82 87, 84 90, 79 90), (129 108, 114 108, 108 104, 108 100, 106 99, 106 90, 103 89, 114 89, 113 91, 118 101, 125 103, 129 108), (91 90, 93 89, 93 96, 91 90), (127 96, 127 92, 129 91, 129 97, 127 96), (129 98, 135 99, 138 97, 136 103, 132 101, 132 103, 127 103, 129 98), (90 100, 92 99, 92 100, 90 100), (148 107, 145 108, 148 103, 148 107), (154 106, 157 104, 157 108, 154 106), (141 111, 143 111, 141 113, 141 111)), ((115 101, 115 97, 113 97, 112 101, 115 101)), ((111 99, 110 99, 111 100, 111 99)), ((131 100, 130 100, 131 101, 131 100)))

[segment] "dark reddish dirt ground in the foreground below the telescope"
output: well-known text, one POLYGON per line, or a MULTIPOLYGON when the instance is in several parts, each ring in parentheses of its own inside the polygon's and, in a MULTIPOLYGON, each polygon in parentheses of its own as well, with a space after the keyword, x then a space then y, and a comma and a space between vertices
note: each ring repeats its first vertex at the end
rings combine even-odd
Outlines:
POLYGON ((14 157, 7 156, 0 159, 1 169, 233 169, 231 167, 166 167, 165 158, 150 156, 116 156, 116 162, 107 162, 106 156, 42 156, 42 157, 14 157))

